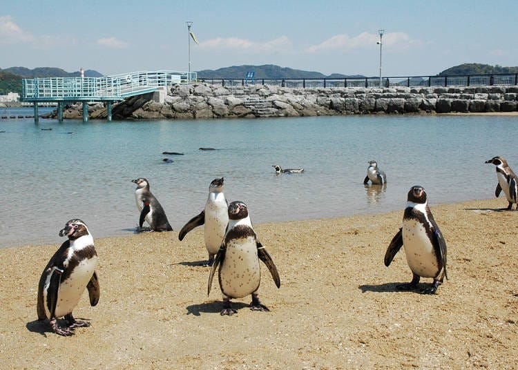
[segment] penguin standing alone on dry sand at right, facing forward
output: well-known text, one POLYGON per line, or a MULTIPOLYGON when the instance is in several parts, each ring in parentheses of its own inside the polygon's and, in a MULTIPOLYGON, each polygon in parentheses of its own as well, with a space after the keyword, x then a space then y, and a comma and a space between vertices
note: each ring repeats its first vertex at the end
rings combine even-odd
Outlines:
POLYGON ((401 290, 416 289, 421 277, 432 277, 434 282, 422 293, 434 294, 446 273, 446 242, 428 207, 422 186, 412 186, 407 196, 403 227, 392 238, 385 253, 385 266, 389 266, 401 246, 405 249, 407 263, 414 275, 409 284, 396 286, 401 290))

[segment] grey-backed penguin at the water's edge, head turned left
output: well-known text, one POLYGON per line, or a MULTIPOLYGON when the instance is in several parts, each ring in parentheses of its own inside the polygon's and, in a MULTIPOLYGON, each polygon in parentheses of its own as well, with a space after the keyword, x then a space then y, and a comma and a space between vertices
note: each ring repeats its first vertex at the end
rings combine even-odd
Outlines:
POLYGON ((131 180, 137 184, 135 189, 135 202, 140 212, 139 227, 137 231, 143 231, 142 224, 144 220, 148 223, 153 231, 172 231, 173 228, 167 221, 164 208, 160 205, 157 198, 149 191, 149 182, 144 177, 131 180))

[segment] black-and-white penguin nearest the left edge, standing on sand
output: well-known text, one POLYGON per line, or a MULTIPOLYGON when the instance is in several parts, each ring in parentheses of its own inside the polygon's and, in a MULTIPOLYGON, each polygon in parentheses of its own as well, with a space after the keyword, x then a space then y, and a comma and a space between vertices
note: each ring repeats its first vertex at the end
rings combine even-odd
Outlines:
POLYGON ((99 280, 95 268, 97 253, 88 227, 73 219, 59 231, 68 240, 61 244, 45 267, 38 285, 38 320, 50 320, 52 331, 59 335, 73 335, 77 327, 89 327, 88 322, 75 320, 72 310, 88 289, 90 305, 99 302, 99 280), (65 317, 67 327, 59 327, 57 318, 65 317))

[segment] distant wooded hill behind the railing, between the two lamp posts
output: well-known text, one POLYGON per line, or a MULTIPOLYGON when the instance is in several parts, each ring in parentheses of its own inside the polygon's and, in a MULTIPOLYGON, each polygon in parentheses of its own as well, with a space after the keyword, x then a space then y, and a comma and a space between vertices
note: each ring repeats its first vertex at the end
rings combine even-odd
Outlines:
POLYGON ((365 77, 362 75, 340 75, 338 73, 326 76, 320 72, 296 70, 293 68, 275 66, 274 64, 265 64, 263 66, 231 66, 226 68, 219 68, 217 70, 200 70, 197 73, 199 79, 236 79, 244 78, 247 75, 247 72, 250 70, 255 72, 254 76, 256 79, 322 79, 365 77))

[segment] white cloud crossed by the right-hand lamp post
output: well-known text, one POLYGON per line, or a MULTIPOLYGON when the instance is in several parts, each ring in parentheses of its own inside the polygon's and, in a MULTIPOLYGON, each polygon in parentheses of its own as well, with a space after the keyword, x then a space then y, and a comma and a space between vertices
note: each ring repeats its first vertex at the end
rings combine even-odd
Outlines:
MULTIPOLYGON (((420 44, 421 41, 412 40, 405 32, 392 32, 383 35, 383 46, 387 48, 407 48, 411 44, 420 44)), ((309 53, 324 52, 329 50, 352 50, 372 48, 379 41, 379 34, 362 32, 360 35, 349 37, 346 34, 335 35, 330 39, 309 46, 306 49, 309 53)))

